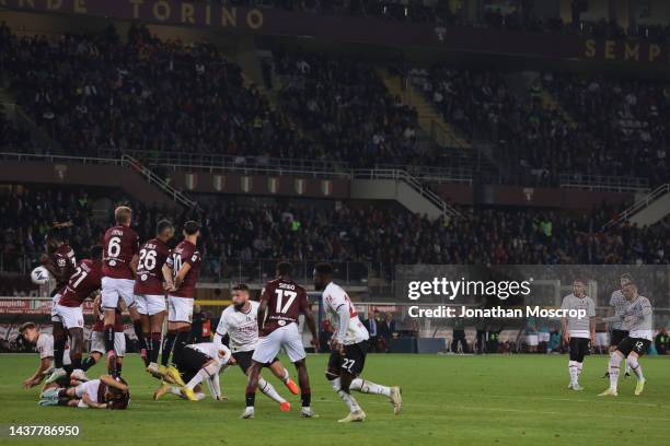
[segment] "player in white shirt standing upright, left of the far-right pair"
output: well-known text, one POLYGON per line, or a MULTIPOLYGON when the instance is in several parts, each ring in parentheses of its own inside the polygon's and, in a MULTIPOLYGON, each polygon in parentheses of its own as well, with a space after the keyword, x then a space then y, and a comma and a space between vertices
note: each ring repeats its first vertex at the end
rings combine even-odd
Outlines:
POLYGON ((568 389, 584 390, 579 385, 579 375, 584 368, 584 357, 589 352, 589 342, 596 344, 596 304, 586 295, 586 286, 582 280, 573 282, 573 293, 563 298, 561 309, 581 310, 585 317, 563 317, 563 341, 569 344, 570 360, 568 361, 568 373, 570 384, 568 389))

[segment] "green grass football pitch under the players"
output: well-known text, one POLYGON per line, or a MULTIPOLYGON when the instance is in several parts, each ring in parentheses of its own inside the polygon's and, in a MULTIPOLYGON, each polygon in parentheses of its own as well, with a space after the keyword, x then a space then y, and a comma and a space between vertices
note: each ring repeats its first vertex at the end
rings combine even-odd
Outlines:
MULTIPOLYGON (((601 378, 607 359, 589 356, 580 383, 585 391, 566 389, 567 356, 439 356, 369 355, 365 377, 400 385, 403 412, 380 396, 355 394, 368 414, 365 423, 338 424, 345 406, 323 377, 326 355, 310 355, 312 407, 319 419, 299 416, 259 395, 256 419, 240 420, 244 409, 244 377, 238 368, 221 376, 228 401, 199 402, 173 395, 151 399, 157 380, 146 375, 136 355, 126 359, 124 376, 131 388, 126 411, 41 408, 38 389, 21 382, 36 366, 36 355, 0 355, 0 443, 54 444, 72 439, 8 437, 9 425, 72 425, 81 427, 74 444, 136 445, 669 445, 670 360, 644 357, 648 383, 633 396, 634 378, 622 379, 620 396, 603 399, 601 378)), ((93 377, 102 373, 96 365, 93 377)), ((294 373, 292 373, 294 375, 294 373)), ((288 390, 274 377, 284 396, 288 390)))

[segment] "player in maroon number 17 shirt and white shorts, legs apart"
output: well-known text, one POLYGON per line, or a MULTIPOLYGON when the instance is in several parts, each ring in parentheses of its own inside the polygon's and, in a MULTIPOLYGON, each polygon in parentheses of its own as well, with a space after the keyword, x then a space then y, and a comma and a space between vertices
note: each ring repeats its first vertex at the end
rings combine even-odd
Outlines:
POLYGON ((301 416, 316 416, 310 406, 312 395, 305 363, 307 354, 298 332, 300 314, 304 315, 307 326, 312 332, 312 344, 314 347, 319 345, 319 336, 316 334, 314 315, 308 305, 307 292, 291 280, 292 271, 291 263, 286 261, 278 263, 277 279, 269 281, 261 293, 257 320, 262 320, 263 324, 261 326, 261 339, 252 355, 252 365, 249 371, 246 409, 242 413, 243 419, 254 418, 261 367, 273 363, 281 348, 298 371, 298 384, 300 385, 300 398, 302 400, 301 416))

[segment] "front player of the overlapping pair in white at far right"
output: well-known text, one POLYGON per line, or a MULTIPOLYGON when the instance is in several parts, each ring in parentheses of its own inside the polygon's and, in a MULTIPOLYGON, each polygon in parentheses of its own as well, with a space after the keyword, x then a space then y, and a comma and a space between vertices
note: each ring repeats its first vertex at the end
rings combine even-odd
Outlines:
POLYGON ((649 300, 638 294, 635 283, 626 283, 622 291, 628 301, 628 306, 624 313, 624 322, 628 329, 628 337, 619 343, 616 350, 610 356, 610 388, 600 394, 601 397, 616 397, 619 395, 619 366, 623 359, 626 360, 631 371, 633 371, 637 378, 635 395, 642 395, 647 382, 643 375, 638 359, 645 354, 651 344, 654 310, 649 300))

